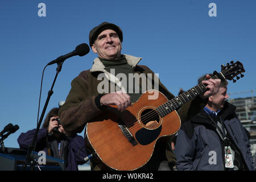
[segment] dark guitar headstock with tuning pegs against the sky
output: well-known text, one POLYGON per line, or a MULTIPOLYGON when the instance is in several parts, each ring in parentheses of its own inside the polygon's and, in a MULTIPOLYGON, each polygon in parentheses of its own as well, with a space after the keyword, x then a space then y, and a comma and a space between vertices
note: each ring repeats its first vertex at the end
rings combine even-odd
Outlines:
POLYGON ((243 77, 242 73, 245 72, 245 69, 243 68, 243 65, 240 61, 230 61, 230 63, 227 63, 226 65, 221 65, 221 73, 227 80, 233 80, 233 82, 236 82, 234 77, 237 78, 237 80, 240 79, 240 77, 243 77), (238 76, 239 74, 240 77, 238 76))

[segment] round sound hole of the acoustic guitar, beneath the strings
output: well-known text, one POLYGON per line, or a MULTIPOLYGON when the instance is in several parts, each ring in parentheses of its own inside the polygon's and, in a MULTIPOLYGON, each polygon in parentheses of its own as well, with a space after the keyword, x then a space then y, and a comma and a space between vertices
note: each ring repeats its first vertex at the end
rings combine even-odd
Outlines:
POLYGON ((160 118, 158 113, 153 109, 143 110, 141 113, 141 121, 143 125, 147 127, 154 128, 154 126, 158 125, 160 118))

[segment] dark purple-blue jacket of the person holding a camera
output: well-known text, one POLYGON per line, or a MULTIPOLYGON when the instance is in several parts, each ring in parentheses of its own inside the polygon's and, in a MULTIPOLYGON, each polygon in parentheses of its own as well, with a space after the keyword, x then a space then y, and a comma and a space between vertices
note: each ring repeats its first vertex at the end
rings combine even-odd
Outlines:
MULTIPOLYGON (((28 145, 32 143, 32 139, 36 129, 29 130, 27 133, 22 133, 19 135, 18 143, 21 149, 28 149, 28 145)), ((56 139, 53 139, 51 136, 47 135, 47 129, 40 129, 38 132, 38 137, 36 140, 36 152, 38 151, 47 151, 47 139, 48 146, 52 146, 51 143, 56 142, 56 139)), ((67 171, 77 171, 77 164, 84 164, 84 158, 87 155, 85 150, 85 142, 84 138, 79 135, 73 135, 72 137, 65 137, 65 153, 64 153, 64 162, 65 162, 65 170, 67 171), (79 152, 79 155, 78 155, 79 152)), ((53 156, 53 148, 51 148, 51 156, 53 156)), ((56 157, 56 156, 53 156, 56 157)))

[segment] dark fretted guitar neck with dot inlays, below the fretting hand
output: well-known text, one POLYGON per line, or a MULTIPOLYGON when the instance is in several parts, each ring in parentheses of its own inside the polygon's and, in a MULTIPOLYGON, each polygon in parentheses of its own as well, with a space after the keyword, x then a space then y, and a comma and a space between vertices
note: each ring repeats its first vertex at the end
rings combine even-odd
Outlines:
MULTIPOLYGON (((217 75, 212 77, 213 79, 218 78, 217 75)), ((207 88, 203 83, 194 86, 193 88, 187 90, 186 92, 181 93, 179 96, 172 98, 171 100, 167 101, 163 105, 160 105, 156 108, 160 117, 164 117, 165 115, 171 113, 175 109, 179 108, 183 104, 187 103, 188 101, 192 100, 196 96, 207 91, 207 88)))

